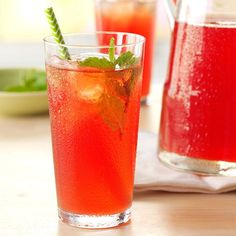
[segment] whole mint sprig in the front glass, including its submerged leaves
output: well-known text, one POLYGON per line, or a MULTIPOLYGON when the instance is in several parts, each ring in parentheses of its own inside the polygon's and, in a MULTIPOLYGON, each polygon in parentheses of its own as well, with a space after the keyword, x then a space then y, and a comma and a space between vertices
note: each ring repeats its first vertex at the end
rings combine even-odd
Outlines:
POLYGON ((122 52, 118 57, 115 56, 115 51, 115 39, 111 38, 108 57, 88 57, 78 63, 81 67, 120 69, 116 72, 107 71, 104 75, 106 90, 97 106, 104 123, 113 131, 118 130, 121 137, 125 128, 125 113, 129 105, 129 97, 140 73, 136 73, 139 67, 130 68, 138 63, 138 58, 131 51, 122 52))

